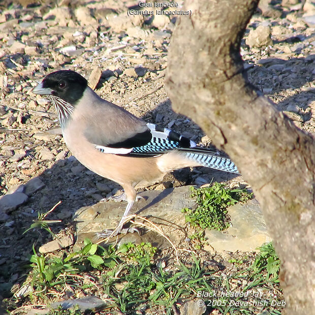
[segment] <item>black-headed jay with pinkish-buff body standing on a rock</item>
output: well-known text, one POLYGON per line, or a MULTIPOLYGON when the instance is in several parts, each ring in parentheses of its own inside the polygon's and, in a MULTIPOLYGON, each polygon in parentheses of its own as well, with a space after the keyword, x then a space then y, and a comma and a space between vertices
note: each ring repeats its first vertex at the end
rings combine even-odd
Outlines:
POLYGON ((139 183, 158 181, 184 167, 205 166, 239 174, 235 164, 217 150, 198 146, 102 99, 75 71, 52 72, 32 91, 55 106, 62 136, 76 159, 122 186, 127 206, 114 235, 122 232, 125 218, 139 198, 135 190, 139 183))

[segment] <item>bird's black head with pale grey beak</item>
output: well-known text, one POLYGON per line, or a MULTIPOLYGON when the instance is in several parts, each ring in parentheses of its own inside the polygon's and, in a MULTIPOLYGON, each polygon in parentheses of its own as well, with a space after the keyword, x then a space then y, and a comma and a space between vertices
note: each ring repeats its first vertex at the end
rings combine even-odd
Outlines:
POLYGON ((51 95, 75 105, 86 87, 87 80, 80 74, 71 70, 60 70, 47 75, 42 83, 33 89, 33 93, 51 95))

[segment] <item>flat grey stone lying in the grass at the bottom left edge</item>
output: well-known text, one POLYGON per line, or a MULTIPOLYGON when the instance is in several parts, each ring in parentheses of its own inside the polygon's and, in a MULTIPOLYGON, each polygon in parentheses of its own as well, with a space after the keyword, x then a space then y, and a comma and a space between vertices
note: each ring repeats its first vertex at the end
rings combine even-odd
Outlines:
POLYGON ((70 309, 73 308, 75 305, 78 305, 80 311, 84 312, 85 310, 101 310, 106 304, 103 300, 96 296, 86 296, 80 299, 53 302, 51 303, 50 307, 56 309, 61 306, 62 309, 70 309))

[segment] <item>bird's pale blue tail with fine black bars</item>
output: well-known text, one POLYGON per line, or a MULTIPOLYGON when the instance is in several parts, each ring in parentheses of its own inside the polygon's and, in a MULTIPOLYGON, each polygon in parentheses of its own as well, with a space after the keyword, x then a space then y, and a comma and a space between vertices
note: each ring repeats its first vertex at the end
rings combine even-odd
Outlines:
POLYGON ((178 148, 181 154, 200 166, 210 167, 212 169, 239 174, 235 164, 228 158, 219 153, 202 147, 178 148))

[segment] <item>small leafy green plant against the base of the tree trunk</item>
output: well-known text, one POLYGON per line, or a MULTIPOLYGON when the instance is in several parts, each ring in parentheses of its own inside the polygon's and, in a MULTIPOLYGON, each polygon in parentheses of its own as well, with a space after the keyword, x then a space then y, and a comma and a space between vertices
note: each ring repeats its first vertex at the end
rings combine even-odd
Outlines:
POLYGON ((266 280, 279 282, 280 259, 275 252, 272 242, 265 243, 259 247, 260 254, 256 257, 251 269, 256 274, 267 272, 266 280))

